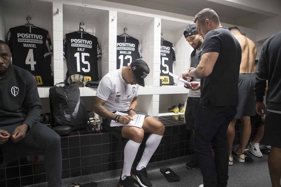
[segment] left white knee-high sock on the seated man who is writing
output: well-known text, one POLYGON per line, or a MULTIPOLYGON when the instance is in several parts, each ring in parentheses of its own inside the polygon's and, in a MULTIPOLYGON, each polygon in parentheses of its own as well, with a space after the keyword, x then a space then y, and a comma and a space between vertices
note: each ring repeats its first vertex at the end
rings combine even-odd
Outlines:
POLYGON ((140 143, 136 143, 133 140, 129 140, 126 143, 124 149, 124 165, 123 165, 123 172, 121 175, 121 179, 124 180, 124 176, 130 176, 131 168, 133 166, 133 162, 136 158, 136 153, 139 150, 140 143))

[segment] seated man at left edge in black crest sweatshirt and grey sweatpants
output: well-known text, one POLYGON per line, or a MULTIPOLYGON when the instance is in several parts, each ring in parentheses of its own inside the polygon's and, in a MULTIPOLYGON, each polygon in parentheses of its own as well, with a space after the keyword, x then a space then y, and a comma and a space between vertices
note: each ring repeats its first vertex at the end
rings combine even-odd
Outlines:
POLYGON ((0 40, 0 146, 44 150, 48 187, 61 187, 60 136, 38 123, 41 101, 30 72, 11 64, 9 46, 0 40))

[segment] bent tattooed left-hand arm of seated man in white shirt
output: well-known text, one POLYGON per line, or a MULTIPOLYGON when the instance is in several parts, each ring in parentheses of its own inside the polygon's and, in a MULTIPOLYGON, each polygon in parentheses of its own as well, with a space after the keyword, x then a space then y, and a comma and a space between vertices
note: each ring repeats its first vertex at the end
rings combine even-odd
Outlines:
POLYGON ((98 115, 100 115, 103 118, 107 118, 110 120, 114 120, 116 117, 116 114, 108 111, 103 105, 105 104, 106 101, 102 100, 101 98, 96 96, 96 100, 94 103, 94 112, 98 115))

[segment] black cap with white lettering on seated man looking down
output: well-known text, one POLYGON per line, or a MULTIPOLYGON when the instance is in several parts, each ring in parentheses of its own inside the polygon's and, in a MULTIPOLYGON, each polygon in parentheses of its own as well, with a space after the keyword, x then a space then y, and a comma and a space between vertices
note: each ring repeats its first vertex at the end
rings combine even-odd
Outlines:
POLYGON ((149 74, 150 69, 145 61, 142 59, 134 60, 131 63, 131 68, 133 70, 133 77, 136 84, 145 86, 145 77, 149 74))

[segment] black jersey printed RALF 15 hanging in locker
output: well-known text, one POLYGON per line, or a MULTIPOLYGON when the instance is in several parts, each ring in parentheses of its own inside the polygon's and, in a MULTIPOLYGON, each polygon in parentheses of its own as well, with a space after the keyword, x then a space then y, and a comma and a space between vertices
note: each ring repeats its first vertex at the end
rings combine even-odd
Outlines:
POLYGON ((85 76, 87 81, 99 80, 98 60, 101 57, 96 36, 80 31, 67 33, 63 38, 63 58, 67 64, 65 81, 74 74, 85 76))

